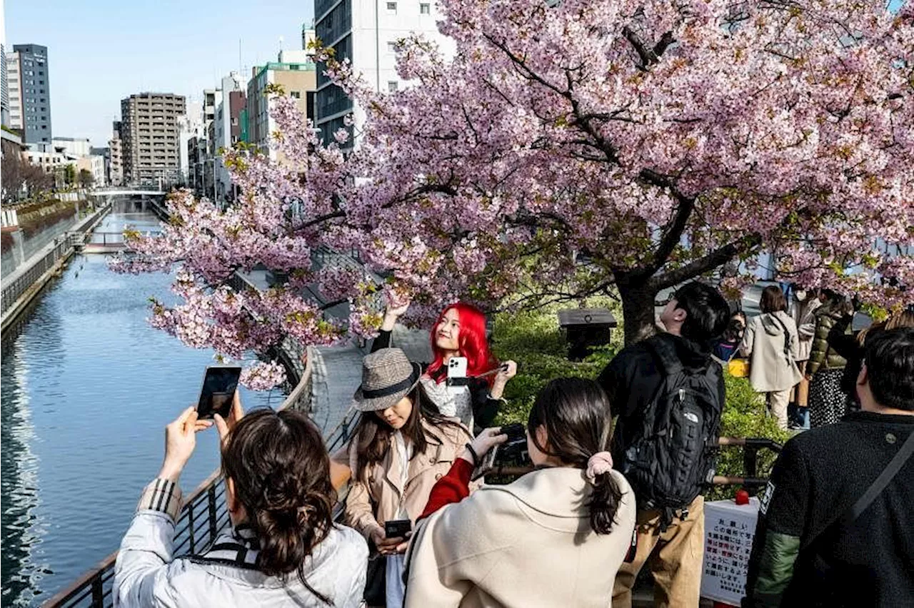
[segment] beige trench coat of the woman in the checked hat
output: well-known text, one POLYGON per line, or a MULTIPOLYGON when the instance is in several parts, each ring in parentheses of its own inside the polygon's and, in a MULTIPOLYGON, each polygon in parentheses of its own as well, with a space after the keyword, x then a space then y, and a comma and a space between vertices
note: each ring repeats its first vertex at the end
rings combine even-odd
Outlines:
MULTIPOLYGON (((372 529, 383 527, 389 519, 398 519, 401 504, 409 519, 415 522, 429 502, 431 487, 447 475, 454 458, 473 440, 466 427, 460 425, 458 419, 454 418, 454 421, 456 425, 435 426, 422 420, 426 433, 435 439, 430 440, 425 454, 413 455, 405 464, 409 466, 406 487, 402 487, 401 481, 404 463, 400 462, 394 446, 390 446, 381 463, 368 467, 361 478, 353 477, 345 501, 346 522, 368 539, 372 529), (377 508, 372 508, 372 503, 377 508)), ((349 446, 349 467, 355 476, 358 470, 355 440, 349 446)))

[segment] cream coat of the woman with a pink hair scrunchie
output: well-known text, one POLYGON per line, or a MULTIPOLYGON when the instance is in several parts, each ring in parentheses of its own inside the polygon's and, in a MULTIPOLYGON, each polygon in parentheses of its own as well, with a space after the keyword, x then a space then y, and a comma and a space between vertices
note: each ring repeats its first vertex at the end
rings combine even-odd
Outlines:
POLYGON ((612 477, 623 495, 606 535, 590 529, 590 484, 576 468, 539 469, 441 508, 410 545, 406 608, 606 608, 635 522, 632 488, 612 477))

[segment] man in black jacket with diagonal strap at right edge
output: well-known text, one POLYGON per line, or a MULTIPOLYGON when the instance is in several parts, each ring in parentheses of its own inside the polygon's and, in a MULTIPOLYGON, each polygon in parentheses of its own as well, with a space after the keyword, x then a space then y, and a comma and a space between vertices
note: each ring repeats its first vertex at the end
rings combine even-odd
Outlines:
POLYGON ((867 336, 856 393, 860 412, 778 456, 743 606, 914 604, 914 329, 867 336))

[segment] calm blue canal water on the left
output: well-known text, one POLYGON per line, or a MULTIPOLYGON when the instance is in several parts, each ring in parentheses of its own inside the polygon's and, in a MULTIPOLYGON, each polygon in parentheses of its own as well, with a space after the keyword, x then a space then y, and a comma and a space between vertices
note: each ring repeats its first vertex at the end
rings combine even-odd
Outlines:
MULTIPOLYGON (((154 216, 118 212, 101 231, 154 216)), ((74 257, 20 326, 0 339, 0 606, 35 605, 120 543, 162 461, 164 427, 193 404, 212 353, 150 328, 147 299, 170 277, 124 276, 74 257)), ((282 403, 244 393, 246 408, 282 403)), ((218 466, 198 436, 185 492, 218 466)))

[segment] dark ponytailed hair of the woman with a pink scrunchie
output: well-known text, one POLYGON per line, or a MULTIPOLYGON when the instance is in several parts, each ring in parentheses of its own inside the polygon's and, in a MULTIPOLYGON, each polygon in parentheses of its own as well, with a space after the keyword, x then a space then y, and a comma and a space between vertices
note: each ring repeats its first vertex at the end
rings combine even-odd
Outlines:
MULTIPOLYGON (((540 452, 558 458, 563 465, 586 470, 591 456, 610 449, 610 404, 599 384, 581 378, 558 378, 537 394, 526 429, 540 452), (537 428, 543 425, 548 446, 540 446, 537 440, 537 428)), ((611 471, 594 477, 591 485, 587 503, 590 527, 597 534, 609 534, 622 502, 622 490, 611 471)))

